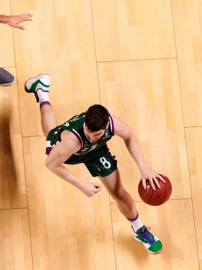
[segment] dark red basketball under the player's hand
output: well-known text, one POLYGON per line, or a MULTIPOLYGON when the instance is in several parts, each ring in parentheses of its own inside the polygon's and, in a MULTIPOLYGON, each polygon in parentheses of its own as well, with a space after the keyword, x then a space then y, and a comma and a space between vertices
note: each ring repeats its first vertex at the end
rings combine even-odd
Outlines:
POLYGON ((153 190, 148 179, 146 180, 147 188, 144 189, 142 179, 140 180, 138 185, 138 193, 142 201, 144 201, 146 204, 157 206, 164 204, 170 198, 172 193, 172 185, 168 177, 162 176, 162 178, 166 181, 166 183, 163 183, 159 178, 156 177, 159 185, 161 186, 161 188, 158 188, 156 183, 154 183, 156 190, 153 190))

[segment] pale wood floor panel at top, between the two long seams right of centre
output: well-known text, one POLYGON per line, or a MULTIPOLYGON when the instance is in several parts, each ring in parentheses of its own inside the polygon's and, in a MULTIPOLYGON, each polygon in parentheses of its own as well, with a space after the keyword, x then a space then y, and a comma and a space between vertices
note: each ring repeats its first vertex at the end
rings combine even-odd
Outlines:
POLYGON ((97 62, 176 57, 169 0, 91 3, 97 62))

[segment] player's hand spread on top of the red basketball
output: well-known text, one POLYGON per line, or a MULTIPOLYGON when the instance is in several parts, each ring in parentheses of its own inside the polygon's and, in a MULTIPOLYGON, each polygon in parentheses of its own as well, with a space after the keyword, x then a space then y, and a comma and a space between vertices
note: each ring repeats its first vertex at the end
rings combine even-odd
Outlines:
POLYGON ((146 187, 147 187, 147 185, 146 185, 147 179, 151 183, 153 190, 155 190, 154 182, 156 183, 158 188, 161 188, 156 177, 159 178, 161 181, 163 181, 163 183, 166 183, 166 181, 163 179, 162 176, 165 176, 165 174, 161 173, 160 171, 155 171, 155 170, 152 170, 148 167, 144 167, 141 170, 142 184, 143 184, 144 189, 146 189, 146 187))

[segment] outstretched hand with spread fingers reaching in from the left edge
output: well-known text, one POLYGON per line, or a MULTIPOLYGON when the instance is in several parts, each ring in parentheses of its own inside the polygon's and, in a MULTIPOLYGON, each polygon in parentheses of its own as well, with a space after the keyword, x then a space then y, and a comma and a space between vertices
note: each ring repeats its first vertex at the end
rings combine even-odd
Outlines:
POLYGON ((18 23, 25 21, 32 21, 32 19, 29 19, 32 16, 33 14, 30 13, 23 13, 20 15, 11 15, 11 16, 4 15, 2 18, 2 22, 8 24, 11 27, 16 27, 25 30, 25 27, 18 25, 18 23))

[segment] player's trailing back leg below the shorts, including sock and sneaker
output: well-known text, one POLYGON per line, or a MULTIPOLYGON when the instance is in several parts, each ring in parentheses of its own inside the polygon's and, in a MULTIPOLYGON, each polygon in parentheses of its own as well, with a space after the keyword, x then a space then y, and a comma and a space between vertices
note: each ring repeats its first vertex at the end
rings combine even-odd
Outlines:
POLYGON ((34 93, 37 102, 40 104, 41 126, 46 137, 49 131, 57 126, 56 116, 48 97, 50 80, 50 75, 40 74, 25 82, 25 91, 27 93, 34 93))

